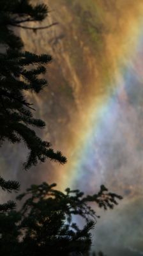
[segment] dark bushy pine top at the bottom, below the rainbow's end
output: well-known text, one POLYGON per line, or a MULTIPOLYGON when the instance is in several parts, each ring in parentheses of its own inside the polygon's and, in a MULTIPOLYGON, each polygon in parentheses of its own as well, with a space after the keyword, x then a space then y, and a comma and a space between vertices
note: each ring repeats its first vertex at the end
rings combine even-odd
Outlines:
POLYGON ((86 255, 91 246, 91 229, 98 218, 89 203, 112 209, 117 199, 121 199, 104 186, 99 193, 87 196, 79 190, 67 188, 63 193, 55 187, 56 184, 46 182, 32 185, 17 197, 18 200, 25 198, 20 211, 0 215, 2 255, 86 255), (73 215, 84 218, 86 225, 79 228, 72 222, 73 215), (12 223, 10 229, 6 223, 12 223))

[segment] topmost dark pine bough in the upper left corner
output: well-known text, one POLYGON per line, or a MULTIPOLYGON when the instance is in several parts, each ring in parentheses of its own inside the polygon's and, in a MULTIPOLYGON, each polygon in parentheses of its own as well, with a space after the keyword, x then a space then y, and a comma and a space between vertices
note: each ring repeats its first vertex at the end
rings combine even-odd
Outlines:
POLYGON ((47 17, 48 8, 45 4, 33 6, 29 0, 1 0, 0 13, 0 44, 20 49, 23 46, 22 40, 13 33, 12 28, 25 22, 42 21, 47 17))

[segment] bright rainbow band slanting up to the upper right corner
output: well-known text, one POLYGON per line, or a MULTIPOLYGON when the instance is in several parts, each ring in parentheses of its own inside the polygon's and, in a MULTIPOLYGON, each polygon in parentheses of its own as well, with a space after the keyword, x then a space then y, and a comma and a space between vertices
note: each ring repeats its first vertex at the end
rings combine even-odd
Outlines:
MULTIPOLYGON (((98 152, 98 144, 106 141, 108 133, 114 130, 119 108, 121 106, 126 108, 128 96, 124 88, 130 87, 132 80, 137 77, 142 80, 143 3, 142 0, 137 3, 130 0, 130 5, 127 6, 128 1, 124 2, 126 2, 126 10, 122 13, 120 28, 104 37, 103 59, 105 60, 100 61, 100 78, 96 83, 105 90, 101 95, 91 97, 84 109, 84 117, 82 116, 77 124, 78 132, 75 138, 72 138, 75 143, 68 154, 68 163, 58 179, 62 189, 67 186, 77 188, 77 182, 80 184, 81 181, 82 190, 86 190, 86 186, 90 184, 93 191, 95 184, 104 182, 103 152, 98 152), (107 67, 109 67, 108 73, 107 67), (97 165, 100 173, 96 173, 97 165)), ((116 18, 112 17, 110 22, 114 22, 114 19, 116 18)), ((105 16, 107 27, 110 26, 110 22, 105 16)))

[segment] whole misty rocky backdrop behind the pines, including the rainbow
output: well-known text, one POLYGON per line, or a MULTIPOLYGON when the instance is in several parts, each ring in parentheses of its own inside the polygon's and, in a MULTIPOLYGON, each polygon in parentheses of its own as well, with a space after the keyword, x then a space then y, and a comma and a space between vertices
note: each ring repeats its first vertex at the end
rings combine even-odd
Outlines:
POLYGON ((47 123, 41 136, 68 157, 68 164, 48 162, 25 173, 16 161, 24 161, 24 145, 4 145, 1 172, 8 179, 22 180, 22 188, 46 179, 58 182, 61 189, 72 186, 92 193, 104 183, 126 198, 120 205, 124 217, 117 223, 117 211, 112 218, 105 216, 102 233, 100 223, 96 237, 101 241, 117 230, 112 246, 121 247, 124 240, 128 248, 133 244, 135 250, 142 250, 140 232, 135 232, 142 211, 137 204, 142 196, 142 0, 44 2, 50 13, 42 26, 58 24, 39 31, 18 31, 27 51, 49 52, 53 57, 46 75, 49 86, 40 95, 27 97, 35 103, 36 115, 47 123), (13 157, 15 164, 11 164, 13 157), (136 220, 130 220, 134 207, 136 220), (130 221, 134 225, 126 239, 130 221), (123 236, 123 230, 126 236, 120 239, 117 233, 123 236))

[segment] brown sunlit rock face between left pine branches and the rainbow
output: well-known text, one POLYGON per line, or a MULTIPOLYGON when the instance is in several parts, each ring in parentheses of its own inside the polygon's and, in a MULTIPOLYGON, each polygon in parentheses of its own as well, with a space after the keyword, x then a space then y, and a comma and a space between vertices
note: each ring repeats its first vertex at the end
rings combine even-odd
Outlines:
MULTIPOLYGON (((36 33, 24 29, 19 31, 27 51, 49 52, 53 57, 52 64, 47 68, 49 87, 40 95, 28 97, 36 102, 37 115, 47 122, 43 136, 70 159, 77 145, 81 125, 87 119, 87 106, 91 105, 96 93, 105 93, 98 86, 102 68, 102 61, 100 64, 98 61, 102 60, 101 54, 105 51, 104 24, 100 13, 98 17, 94 15, 97 8, 94 1, 91 4, 88 1, 82 4, 82 1, 61 0, 45 3, 51 12, 42 26, 52 22, 58 24, 36 33)), ((59 173, 64 169, 63 166, 47 163, 40 168, 47 172, 49 165, 51 171, 46 177, 50 179, 52 172, 52 179, 61 182, 59 173), (57 173, 53 174, 52 169, 57 169, 57 173)))

